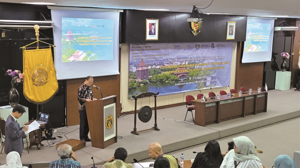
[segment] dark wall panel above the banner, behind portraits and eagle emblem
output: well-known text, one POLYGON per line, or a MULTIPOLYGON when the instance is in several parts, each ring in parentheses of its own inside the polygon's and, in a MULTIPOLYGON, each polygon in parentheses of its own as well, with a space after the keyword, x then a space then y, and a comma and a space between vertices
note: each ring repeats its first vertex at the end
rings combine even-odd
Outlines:
POLYGON ((180 43, 245 41, 247 16, 201 15, 201 32, 192 34, 191 23, 187 22, 190 13, 126 10, 122 14, 122 43, 180 43), (146 40, 146 19, 159 19, 158 40, 146 40), (235 40, 226 40, 227 21, 235 21, 235 40))

